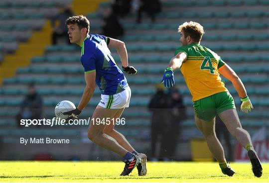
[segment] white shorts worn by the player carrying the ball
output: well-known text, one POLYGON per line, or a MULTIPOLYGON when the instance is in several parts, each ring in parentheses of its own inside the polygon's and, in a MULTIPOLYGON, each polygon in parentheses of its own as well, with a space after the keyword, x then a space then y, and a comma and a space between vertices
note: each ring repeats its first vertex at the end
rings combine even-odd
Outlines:
POLYGON ((129 107, 131 98, 131 89, 127 87, 124 91, 113 95, 101 94, 101 100, 98 105, 104 108, 119 109, 129 107))

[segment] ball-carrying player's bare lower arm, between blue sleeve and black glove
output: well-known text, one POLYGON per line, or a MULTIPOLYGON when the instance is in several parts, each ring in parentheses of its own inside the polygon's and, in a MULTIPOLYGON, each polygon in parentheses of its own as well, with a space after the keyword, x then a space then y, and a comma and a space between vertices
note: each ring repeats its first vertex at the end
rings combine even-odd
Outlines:
POLYGON ((86 87, 83 91, 83 95, 78 105, 78 109, 80 111, 82 111, 86 107, 91 97, 93 96, 95 90, 95 77, 96 71, 93 71, 91 73, 85 73, 86 87))

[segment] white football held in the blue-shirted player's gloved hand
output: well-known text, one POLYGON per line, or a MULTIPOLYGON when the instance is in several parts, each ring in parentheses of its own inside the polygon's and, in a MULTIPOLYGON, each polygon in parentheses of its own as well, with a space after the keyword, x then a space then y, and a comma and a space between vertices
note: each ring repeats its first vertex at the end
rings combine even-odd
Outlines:
POLYGON ((55 116, 61 119, 66 119, 69 116, 63 115, 63 113, 74 109, 76 109, 76 106, 72 101, 68 100, 60 101, 55 107, 55 116))

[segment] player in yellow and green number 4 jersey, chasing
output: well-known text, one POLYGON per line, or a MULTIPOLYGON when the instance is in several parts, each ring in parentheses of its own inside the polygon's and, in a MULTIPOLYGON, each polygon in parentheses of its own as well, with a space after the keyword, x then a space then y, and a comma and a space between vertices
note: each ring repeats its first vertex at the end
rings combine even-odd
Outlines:
POLYGON ((180 42, 165 69, 162 83, 170 88, 174 85, 173 71, 180 69, 192 94, 195 123, 203 133, 211 153, 219 162, 223 174, 233 176, 234 171, 227 165, 223 147, 216 137, 215 116, 225 123, 229 132, 248 151, 252 171, 261 177, 263 168, 254 150, 249 133, 242 128, 232 95, 221 82, 220 74, 230 80, 238 92, 243 112, 253 109, 244 84, 237 74, 210 49, 200 45, 204 34, 203 26, 197 22, 185 22, 179 26, 180 42))

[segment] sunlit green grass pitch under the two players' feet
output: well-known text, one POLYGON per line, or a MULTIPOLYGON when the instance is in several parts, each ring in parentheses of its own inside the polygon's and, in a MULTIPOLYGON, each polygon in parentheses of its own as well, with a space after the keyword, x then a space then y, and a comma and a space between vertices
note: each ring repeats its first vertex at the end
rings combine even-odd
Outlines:
POLYGON ((254 177, 250 163, 231 163, 233 177, 223 175, 217 163, 148 162, 147 175, 119 174, 122 162, 1 161, 0 182, 269 182, 269 163, 261 178, 254 177))

